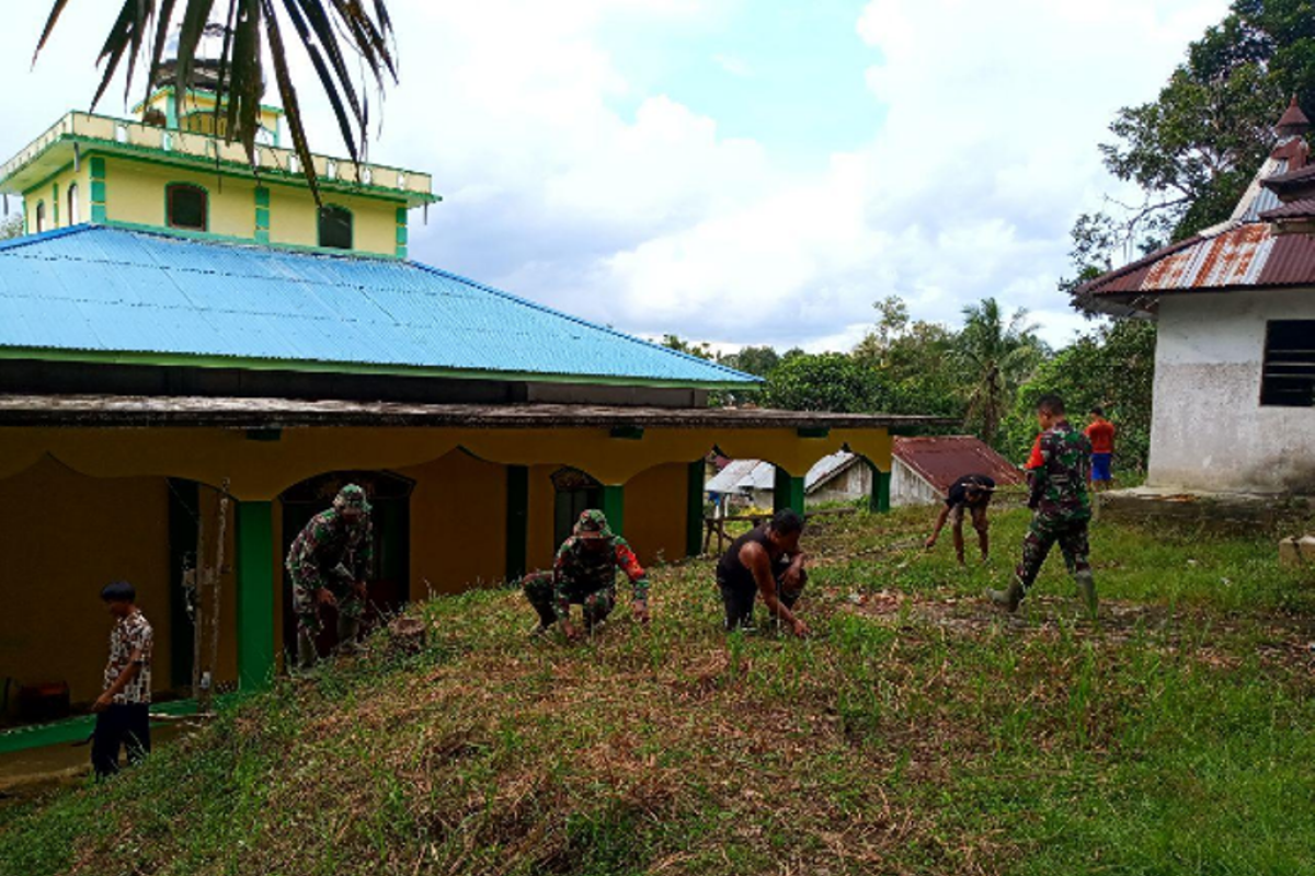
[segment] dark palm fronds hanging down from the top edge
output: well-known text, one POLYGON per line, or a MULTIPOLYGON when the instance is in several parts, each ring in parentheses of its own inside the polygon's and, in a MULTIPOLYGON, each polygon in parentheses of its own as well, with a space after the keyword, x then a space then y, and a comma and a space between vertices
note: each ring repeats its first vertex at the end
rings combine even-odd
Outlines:
MULTIPOLYGON (((54 0, 33 63, 67 5, 68 0, 54 0)), ((208 32, 217 30, 222 37, 222 49, 220 56, 213 59, 216 63, 210 64, 213 68, 208 71, 205 85, 220 97, 214 108, 216 122, 220 117, 224 118, 226 137, 230 142, 241 142, 254 164, 264 63, 268 58, 274 63, 274 77, 288 120, 288 131, 292 134, 292 146, 318 200, 314 163, 310 160, 310 147, 297 105, 297 89, 288 68, 284 30, 291 25, 296 41, 309 55, 338 118, 347 151, 354 162, 360 162, 367 143, 370 102, 364 97, 364 83, 358 84, 352 79, 348 63, 355 62, 362 71, 368 70, 380 88, 385 79, 397 81, 392 18, 385 0, 373 0, 371 5, 372 12, 360 0, 227 0, 225 11, 224 0, 124 0, 96 59, 97 64, 104 62, 105 75, 92 99, 92 109, 125 59, 125 99, 133 87, 133 72, 143 58, 149 62, 150 71, 147 92, 155 87, 175 18, 179 28, 178 56, 172 70, 176 83, 174 100, 181 106, 187 91, 197 84, 197 46, 208 32), (224 14, 220 24, 212 24, 212 14, 216 12, 224 14), (355 58, 348 56, 352 54, 355 58)))

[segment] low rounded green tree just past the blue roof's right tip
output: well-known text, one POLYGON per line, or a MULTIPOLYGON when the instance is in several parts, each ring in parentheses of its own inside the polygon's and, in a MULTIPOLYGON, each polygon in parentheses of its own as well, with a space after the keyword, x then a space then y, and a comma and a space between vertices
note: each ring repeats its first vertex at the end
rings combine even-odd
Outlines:
POLYGON ((877 370, 844 353, 798 353, 767 378, 763 401, 790 411, 880 411, 886 401, 877 370))

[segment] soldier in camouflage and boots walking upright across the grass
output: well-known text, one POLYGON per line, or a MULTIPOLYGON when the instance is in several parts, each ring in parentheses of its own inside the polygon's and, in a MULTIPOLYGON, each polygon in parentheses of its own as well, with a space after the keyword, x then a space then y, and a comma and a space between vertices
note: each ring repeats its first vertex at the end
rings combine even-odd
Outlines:
POLYGON ((1056 542, 1064 553, 1069 574, 1077 582, 1088 612, 1095 617, 1095 580, 1088 561, 1086 528, 1091 520, 1091 500, 1086 482, 1091 465, 1091 443, 1064 418, 1064 401, 1043 397, 1036 406, 1041 433, 1027 461, 1032 523, 1023 537, 1023 559, 1009 590, 992 590, 992 600, 1010 612, 1036 580, 1045 556, 1056 542))

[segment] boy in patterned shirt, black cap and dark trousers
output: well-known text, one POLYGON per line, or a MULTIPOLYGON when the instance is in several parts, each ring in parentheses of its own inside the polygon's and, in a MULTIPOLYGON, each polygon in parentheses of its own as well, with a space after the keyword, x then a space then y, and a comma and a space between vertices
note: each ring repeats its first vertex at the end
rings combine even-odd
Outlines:
POLYGON ((97 697, 96 734, 91 763, 96 777, 118 772, 118 750, 128 749, 129 763, 138 763, 151 750, 151 625, 137 607, 137 590, 116 580, 100 591, 114 629, 109 633, 105 690, 97 697))

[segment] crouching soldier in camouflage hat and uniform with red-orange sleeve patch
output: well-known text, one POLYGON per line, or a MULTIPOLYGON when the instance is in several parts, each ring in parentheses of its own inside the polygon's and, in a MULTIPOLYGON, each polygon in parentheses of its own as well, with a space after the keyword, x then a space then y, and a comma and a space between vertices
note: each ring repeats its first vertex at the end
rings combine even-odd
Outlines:
POLYGON ((615 535, 601 511, 585 511, 558 550, 552 571, 526 575, 525 598, 539 612, 535 634, 562 621, 567 638, 577 638, 571 624, 571 603, 584 607, 584 630, 590 632, 617 604, 617 571, 626 573, 633 592, 631 608, 648 623, 648 577, 630 544, 615 535))

